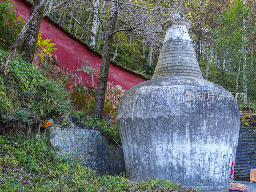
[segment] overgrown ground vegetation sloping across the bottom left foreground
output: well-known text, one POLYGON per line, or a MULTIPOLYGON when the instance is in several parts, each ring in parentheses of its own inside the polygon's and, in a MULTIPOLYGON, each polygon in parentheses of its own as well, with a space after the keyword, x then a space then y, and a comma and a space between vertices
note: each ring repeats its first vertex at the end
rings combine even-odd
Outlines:
MULTIPOLYGON (((0 135, 0 191, 1 192, 89 192, 89 191, 177 191, 176 183, 150 180, 132 183, 124 174, 101 175, 98 171, 78 165, 79 157, 72 160, 58 156, 57 149, 45 140, 16 134, 0 135)), ((180 189, 180 192, 196 192, 180 189)))

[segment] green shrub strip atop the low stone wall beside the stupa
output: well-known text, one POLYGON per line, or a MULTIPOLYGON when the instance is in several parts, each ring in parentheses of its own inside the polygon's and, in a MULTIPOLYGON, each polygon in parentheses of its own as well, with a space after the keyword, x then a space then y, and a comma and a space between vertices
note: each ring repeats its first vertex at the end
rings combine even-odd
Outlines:
POLYGON ((93 129, 104 134, 108 139, 114 139, 116 142, 121 143, 118 127, 116 124, 109 123, 108 120, 97 120, 97 117, 84 118, 84 121, 81 121, 81 124, 85 128, 93 129))

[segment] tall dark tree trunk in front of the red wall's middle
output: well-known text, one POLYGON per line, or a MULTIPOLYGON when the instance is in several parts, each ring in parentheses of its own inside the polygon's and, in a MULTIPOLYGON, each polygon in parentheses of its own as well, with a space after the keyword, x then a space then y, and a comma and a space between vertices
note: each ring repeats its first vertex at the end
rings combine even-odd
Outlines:
POLYGON ((97 83, 96 96, 94 106, 92 110, 92 116, 97 116, 98 119, 102 119, 106 88, 108 83, 108 71, 111 55, 111 47, 113 42, 113 32, 115 31, 116 20, 118 12, 118 3, 113 2, 110 16, 108 20, 108 27, 105 35, 104 47, 102 52, 102 59, 100 65, 100 76, 97 83))

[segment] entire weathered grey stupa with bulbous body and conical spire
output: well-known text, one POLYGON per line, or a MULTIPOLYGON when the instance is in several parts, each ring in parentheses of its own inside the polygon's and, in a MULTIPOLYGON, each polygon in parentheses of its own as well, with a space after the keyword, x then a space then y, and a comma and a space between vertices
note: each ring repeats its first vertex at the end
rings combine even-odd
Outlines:
POLYGON ((179 17, 163 23, 153 78, 124 94, 117 123, 129 179, 148 175, 217 190, 228 185, 239 109, 226 89, 203 79, 190 26, 179 17))

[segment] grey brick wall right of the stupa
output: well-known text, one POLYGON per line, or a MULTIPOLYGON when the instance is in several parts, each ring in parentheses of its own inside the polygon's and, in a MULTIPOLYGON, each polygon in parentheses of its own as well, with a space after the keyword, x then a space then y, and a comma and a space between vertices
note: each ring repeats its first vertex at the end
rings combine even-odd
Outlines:
POLYGON ((256 132, 253 133, 256 129, 256 116, 249 116, 241 116, 234 180, 249 181, 250 170, 256 169, 256 132), (245 122, 248 124, 246 125, 245 122))

